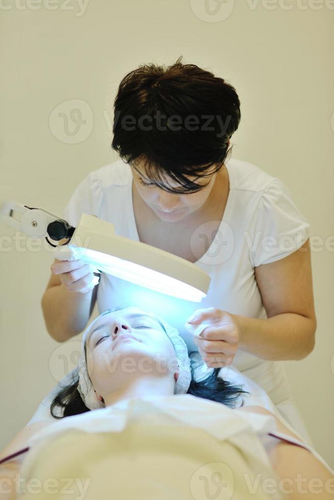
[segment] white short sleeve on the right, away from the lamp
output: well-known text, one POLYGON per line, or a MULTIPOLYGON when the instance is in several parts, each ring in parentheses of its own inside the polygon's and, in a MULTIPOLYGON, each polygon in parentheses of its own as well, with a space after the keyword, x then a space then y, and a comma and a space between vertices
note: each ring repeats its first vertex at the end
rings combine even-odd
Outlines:
POLYGON ((275 179, 263 191, 257 206, 251 248, 253 267, 288 257, 309 238, 309 230, 289 190, 275 179))

